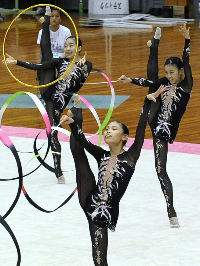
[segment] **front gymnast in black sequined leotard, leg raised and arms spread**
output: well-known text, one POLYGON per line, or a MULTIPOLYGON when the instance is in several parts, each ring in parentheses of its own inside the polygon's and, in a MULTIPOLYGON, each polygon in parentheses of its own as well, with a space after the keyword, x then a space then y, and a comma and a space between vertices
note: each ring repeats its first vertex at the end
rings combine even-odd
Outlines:
POLYGON ((92 241, 92 256, 95 266, 107 266, 108 228, 115 231, 119 215, 119 201, 125 193, 135 170, 144 142, 151 100, 164 91, 164 85, 144 101, 134 143, 124 150, 129 129, 119 121, 109 123, 104 131, 104 141, 110 151, 92 144, 82 132, 82 108, 78 94, 74 94, 74 107, 63 115, 60 123, 71 128, 70 148, 75 161, 79 203, 89 223, 92 241), (98 163, 99 175, 96 184, 84 148, 98 163))

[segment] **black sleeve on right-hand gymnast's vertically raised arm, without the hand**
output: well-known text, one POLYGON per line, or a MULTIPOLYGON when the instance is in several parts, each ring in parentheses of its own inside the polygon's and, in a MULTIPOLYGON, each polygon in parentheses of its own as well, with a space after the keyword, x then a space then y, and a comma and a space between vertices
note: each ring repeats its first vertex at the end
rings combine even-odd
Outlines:
POLYGON ((184 80, 183 80, 183 89, 190 93, 193 86, 193 77, 190 67, 190 39, 185 39, 185 46, 183 50, 183 68, 184 68, 184 80))

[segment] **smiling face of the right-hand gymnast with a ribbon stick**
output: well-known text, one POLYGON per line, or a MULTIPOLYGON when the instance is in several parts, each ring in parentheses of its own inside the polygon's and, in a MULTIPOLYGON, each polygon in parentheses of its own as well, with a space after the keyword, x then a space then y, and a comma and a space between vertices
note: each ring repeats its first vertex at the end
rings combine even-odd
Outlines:
POLYGON ((174 65, 165 65, 165 76, 172 84, 178 84, 183 79, 183 69, 174 65))

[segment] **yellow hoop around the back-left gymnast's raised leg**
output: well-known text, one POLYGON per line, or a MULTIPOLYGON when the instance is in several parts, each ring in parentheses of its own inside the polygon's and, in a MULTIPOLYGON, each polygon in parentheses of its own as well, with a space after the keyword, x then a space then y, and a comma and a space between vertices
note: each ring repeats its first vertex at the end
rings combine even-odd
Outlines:
POLYGON ((30 6, 29 8, 24 9, 24 10, 23 10, 22 12, 20 12, 20 13, 14 18, 14 20, 10 23, 10 25, 9 25, 9 27, 8 27, 8 29, 7 29, 7 31, 6 31, 6 33, 5 33, 4 40, 3 40, 3 59, 4 59, 4 62, 5 62, 5 66, 6 66, 6 68, 8 69, 8 72, 9 72, 10 75, 13 77, 13 79, 15 79, 17 82, 19 82, 20 84, 22 84, 22 85, 24 85, 24 86, 32 87, 32 88, 42 88, 42 87, 47 87, 47 86, 50 86, 50 85, 56 83, 57 81, 59 81, 62 77, 64 77, 64 76, 66 75, 66 73, 67 73, 67 72, 71 69, 71 67, 73 66, 73 64, 74 64, 74 62, 75 62, 75 59, 76 59, 77 52, 78 52, 78 32, 77 32, 77 30, 76 30, 75 23, 74 23, 74 21, 72 20, 71 16, 69 16, 69 15, 67 14, 67 12, 65 12, 63 9, 61 9, 60 7, 58 7, 58 6, 56 6, 56 5, 39 4, 39 5, 32 5, 32 6, 30 6), (54 80, 54 81, 52 81, 52 82, 50 82, 50 83, 48 83, 48 84, 45 84, 45 85, 29 85, 29 84, 26 84, 26 83, 24 83, 24 82, 18 80, 18 79, 13 75, 13 73, 10 71, 10 69, 9 69, 9 67, 8 67, 8 65, 7 65, 7 63, 6 63, 6 60, 5 60, 5 40, 6 40, 6 37, 7 37, 7 34, 8 34, 8 32, 9 32, 10 27, 13 25, 13 23, 16 21, 16 19, 18 19, 19 16, 21 16, 22 14, 24 14, 24 12, 26 12, 27 10, 29 10, 29 9, 31 9, 31 8, 38 7, 38 6, 46 6, 46 5, 59 9, 60 11, 62 11, 62 12, 63 12, 63 13, 64 13, 64 14, 65 14, 65 15, 71 20, 71 23, 73 24, 74 29, 75 29, 75 33, 76 33, 76 52, 75 52, 75 56, 74 56, 74 58, 73 58, 73 60, 72 60, 72 62, 71 62, 71 66, 70 66, 70 67, 65 71, 65 73, 64 73, 62 76, 60 76, 57 80, 54 80))

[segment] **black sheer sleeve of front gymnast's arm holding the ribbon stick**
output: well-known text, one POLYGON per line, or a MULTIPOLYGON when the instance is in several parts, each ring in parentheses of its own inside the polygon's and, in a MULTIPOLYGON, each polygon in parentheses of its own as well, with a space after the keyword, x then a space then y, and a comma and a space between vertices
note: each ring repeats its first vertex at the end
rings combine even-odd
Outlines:
POLYGON ((94 156, 96 160, 101 158, 102 154, 105 150, 97 145, 92 144, 84 135, 82 129, 77 125, 76 121, 69 124, 71 128, 71 132, 75 139, 88 151, 90 154, 94 156))

